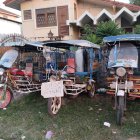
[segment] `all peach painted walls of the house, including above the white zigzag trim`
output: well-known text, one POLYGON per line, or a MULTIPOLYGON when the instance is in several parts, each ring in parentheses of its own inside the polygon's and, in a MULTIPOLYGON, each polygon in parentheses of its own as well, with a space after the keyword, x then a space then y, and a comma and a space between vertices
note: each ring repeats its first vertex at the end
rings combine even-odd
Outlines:
MULTIPOLYGON (((63 39, 78 39, 79 38, 79 27, 77 24, 77 20, 84 14, 85 11, 88 11, 93 17, 98 17, 100 12, 103 9, 106 9, 110 14, 114 15, 113 7, 109 7, 107 5, 103 5, 100 0, 32 0, 26 1, 21 4, 22 11, 22 29, 23 35, 27 38, 38 38, 44 37, 48 39, 48 33, 50 30, 54 34, 54 36, 58 36, 58 23, 57 26, 52 27, 36 27, 36 16, 35 10, 41 8, 50 8, 57 6, 65 6, 68 5, 68 13, 69 13, 69 36, 65 36, 63 39), (24 20, 23 19, 23 10, 32 10, 32 19, 24 20)), ((116 9, 116 13, 120 9, 116 9)), ((57 11, 56 11, 57 15, 57 11)), ((111 15, 111 16, 112 16, 111 15)), ((58 17, 57 17, 58 19, 58 17)), ((116 22, 120 25, 121 18, 118 17, 116 22)), ((98 22, 97 22, 98 23, 98 22)), ((95 24, 97 24, 95 23, 95 24)), ((43 40, 44 40, 43 38, 43 40)))

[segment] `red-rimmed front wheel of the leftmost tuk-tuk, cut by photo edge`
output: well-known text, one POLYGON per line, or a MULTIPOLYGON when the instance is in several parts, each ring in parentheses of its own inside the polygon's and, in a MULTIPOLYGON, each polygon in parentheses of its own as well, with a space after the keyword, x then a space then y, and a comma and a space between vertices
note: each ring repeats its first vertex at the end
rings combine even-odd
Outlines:
POLYGON ((6 108, 11 102, 12 95, 9 89, 6 89, 4 93, 4 89, 0 88, 0 109, 6 108))

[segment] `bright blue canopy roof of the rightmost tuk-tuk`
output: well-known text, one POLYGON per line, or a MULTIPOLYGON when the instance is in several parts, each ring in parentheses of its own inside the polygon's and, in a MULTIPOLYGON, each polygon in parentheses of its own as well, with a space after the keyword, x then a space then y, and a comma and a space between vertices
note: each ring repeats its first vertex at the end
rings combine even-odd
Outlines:
POLYGON ((117 41, 140 41, 140 34, 124 34, 117 36, 108 36, 103 38, 104 43, 117 41))

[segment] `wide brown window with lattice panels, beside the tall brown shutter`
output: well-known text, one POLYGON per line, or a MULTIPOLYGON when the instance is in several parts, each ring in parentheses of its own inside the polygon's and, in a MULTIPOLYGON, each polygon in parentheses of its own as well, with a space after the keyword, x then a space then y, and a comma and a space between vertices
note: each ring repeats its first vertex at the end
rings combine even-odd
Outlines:
POLYGON ((37 27, 56 26, 56 8, 36 9, 36 25, 37 27))

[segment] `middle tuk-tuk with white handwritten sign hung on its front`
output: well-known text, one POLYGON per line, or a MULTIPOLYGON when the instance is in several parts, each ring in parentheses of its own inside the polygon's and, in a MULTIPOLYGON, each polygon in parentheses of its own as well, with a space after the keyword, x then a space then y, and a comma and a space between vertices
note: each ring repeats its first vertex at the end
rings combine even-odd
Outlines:
POLYGON ((48 99, 48 113, 58 113, 64 95, 77 97, 87 92, 93 97, 100 47, 86 40, 44 42, 43 45, 48 81, 42 83, 41 95, 48 99))

